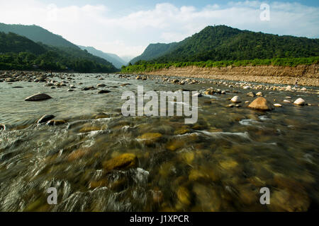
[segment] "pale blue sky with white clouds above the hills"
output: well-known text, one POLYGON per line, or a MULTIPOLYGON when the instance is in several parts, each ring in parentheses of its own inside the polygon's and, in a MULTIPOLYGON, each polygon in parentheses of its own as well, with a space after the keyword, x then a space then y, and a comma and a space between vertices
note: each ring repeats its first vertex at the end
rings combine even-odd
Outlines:
POLYGON ((40 25, 74 44, 135 57, 150 43, 181 41, 215 24, 318 38, 319 1, 11 0, 0 1, 0 22, 40 25), (269 20, 260 19, 263 3, 269 20))

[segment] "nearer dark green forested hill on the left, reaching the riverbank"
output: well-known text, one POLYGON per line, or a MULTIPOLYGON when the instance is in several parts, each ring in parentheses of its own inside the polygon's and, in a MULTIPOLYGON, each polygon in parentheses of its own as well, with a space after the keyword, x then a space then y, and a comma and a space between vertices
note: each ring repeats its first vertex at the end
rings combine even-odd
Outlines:
POLYGON ((0 32, 0 70, 10 69, 84 73, 117 71, 110 62, 79 48, 52 47, 14 33, 0 32))

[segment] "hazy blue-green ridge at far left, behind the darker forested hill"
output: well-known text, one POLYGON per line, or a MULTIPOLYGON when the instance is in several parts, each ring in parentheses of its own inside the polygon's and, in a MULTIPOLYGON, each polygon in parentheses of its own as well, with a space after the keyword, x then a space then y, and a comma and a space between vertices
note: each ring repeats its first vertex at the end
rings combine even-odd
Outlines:
POLYGON ((73 47, 79 49, 75 44, 65 40, 60 35, 55 35, 52 32, 45 30, 37 25, 16 25, 0 23, 0 32, 13 32, 21 36, 28 37, 33 42, 42 42, 43 44, 55 47, 73 47))

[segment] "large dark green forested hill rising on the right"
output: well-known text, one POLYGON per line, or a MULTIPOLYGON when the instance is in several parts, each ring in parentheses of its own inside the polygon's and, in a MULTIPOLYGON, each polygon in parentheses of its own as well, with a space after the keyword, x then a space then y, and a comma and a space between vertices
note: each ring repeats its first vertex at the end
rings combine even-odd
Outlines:
MULTIPOLYGON (((160 52, 161 50, 159 50, 159 54, 160 52)), ((169 51, 156 59, 150 60, 150 62, 169 63, 315 56, 319 56, 319 39, 264 34, 218 25, 208 26, 201 32, 174 44, 174 47, 169 51)), ((140 63, 137 62, 136 64, 140 63)))

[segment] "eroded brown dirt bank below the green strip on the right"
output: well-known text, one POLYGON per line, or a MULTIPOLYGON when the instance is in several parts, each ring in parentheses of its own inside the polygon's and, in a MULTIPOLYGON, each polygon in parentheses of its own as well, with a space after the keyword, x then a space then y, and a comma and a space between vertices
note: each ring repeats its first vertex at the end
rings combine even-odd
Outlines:
POLYGON ((143 72, 146 75, 188 76, 193 78, 226 79, 233 81, 249 81, 257 83, 279 83, 294 85, 319 86, 319 65, 291 66, 228 66, 223 68, 198 68, 186 66, 143 72))

